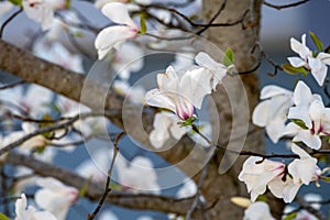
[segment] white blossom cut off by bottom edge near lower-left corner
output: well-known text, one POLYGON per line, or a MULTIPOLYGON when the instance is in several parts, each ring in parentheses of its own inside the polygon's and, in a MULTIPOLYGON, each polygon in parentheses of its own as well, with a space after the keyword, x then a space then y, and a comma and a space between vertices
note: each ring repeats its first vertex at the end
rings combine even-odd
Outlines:
POLYGON ((57 220, 48 211, 37 211, 34 207, 28 206, 28 199, 24 194, 15 202, 15 220, 57 220))

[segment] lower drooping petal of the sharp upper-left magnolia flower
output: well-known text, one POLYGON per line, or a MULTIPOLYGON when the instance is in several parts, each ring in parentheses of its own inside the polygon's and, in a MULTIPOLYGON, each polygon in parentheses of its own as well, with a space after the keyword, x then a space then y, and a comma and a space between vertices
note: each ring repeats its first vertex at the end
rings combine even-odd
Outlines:
POLYGON ((136 35, 138 30, 130 26, 114 25, 103 29, 95 40, 95 47, 98 50, 99 59, 102 59, 112 47, 136 35))

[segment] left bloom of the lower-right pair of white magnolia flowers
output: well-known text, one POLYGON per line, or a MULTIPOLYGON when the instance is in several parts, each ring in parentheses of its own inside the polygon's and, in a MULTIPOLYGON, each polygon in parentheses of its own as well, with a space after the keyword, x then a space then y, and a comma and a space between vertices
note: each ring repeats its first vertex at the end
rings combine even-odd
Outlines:
POLYGON ((258 195, 266 191, 266 187, 274 179, 282 178, 285 173, 285 164, 273 162, 262 157, 250 156, 243 164, 239 179, 244 182, 248 191, 251 193, 251 200, 255 201, 258 195), (260 163, 262 162, 262 163, 260 163))

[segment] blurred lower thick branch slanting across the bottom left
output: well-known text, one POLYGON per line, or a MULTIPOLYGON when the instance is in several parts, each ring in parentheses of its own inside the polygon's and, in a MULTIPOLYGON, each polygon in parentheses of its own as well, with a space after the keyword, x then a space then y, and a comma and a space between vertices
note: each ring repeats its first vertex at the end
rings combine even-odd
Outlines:
MULTIPOLYGON (((6 158, 7 164, 21 165, 34 170, 40 176, 51 176, 57 178, 66 185, 81 189, 88 179, 74 174, 67 169, 47 164, 33 158, 32 156, 21 155, 14 152, 10 152, 6 158)), ((103 194, 103 185, 90 183, 86 191, 85 197, 91 201, 98 201, 103 194)), ((172 212, 184 215, 191 206, 191 198, 175 199, 166 196, 157 196, 150 194, 125 194, 125 193, 111 193, 107 197, 107 202, 111 202, 117 206, 122 206, 131 209, 146 209, 156 210, 163 212, 172 212)))

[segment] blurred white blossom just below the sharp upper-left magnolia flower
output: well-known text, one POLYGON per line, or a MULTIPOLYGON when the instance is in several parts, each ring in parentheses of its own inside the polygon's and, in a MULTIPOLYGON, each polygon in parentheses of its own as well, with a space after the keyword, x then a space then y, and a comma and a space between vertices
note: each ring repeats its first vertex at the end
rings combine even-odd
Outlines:
POLYGON ((116 52, 112 67, 120 78, 128 80, 131 73, 139 72, 143 67, 143 51, 138 45, 125 42, 116 52))

